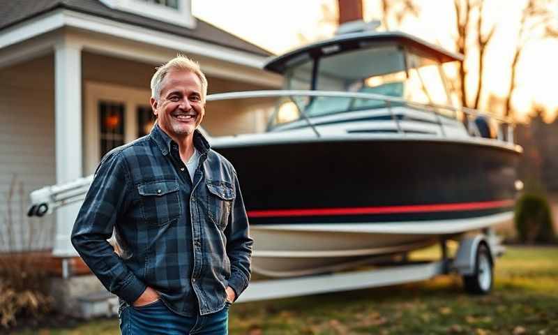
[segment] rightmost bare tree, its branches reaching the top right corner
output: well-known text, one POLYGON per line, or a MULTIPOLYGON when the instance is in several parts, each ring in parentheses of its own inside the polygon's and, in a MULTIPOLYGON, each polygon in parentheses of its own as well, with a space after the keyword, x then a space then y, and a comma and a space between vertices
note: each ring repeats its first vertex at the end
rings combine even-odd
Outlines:
POLYGON ((511 98, 517 87, 515 77, 517 75, 518 63, 521 58, 525 45, 531 40, 539 38, 557 38, 558 30, 552 26, 553 14, 549 6, 555 3, 552 0, 529 0, 522 11, 519 29, 518 42, 515 45, 515 52, 511 61, 511 79, 506 96, 506 116, 513 117, 513 107, 511 98))

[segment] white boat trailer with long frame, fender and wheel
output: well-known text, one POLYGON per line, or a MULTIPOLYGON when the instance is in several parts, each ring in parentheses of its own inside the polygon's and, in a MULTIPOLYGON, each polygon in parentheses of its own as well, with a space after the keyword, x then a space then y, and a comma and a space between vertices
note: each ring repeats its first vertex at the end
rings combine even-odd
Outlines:
POLYGON ((253 281, 236 303, 414 283, 451 273, 463 277, 467 292, 487 294, 494 281, 495 258, 504 253, 504 246, 500 241, 492 230, 485 230, 481 234, 461 239, 453 259, 447 258, 446 241, 443 240, 440 242, 441 260, 405 262, 369 270, 299 278, 253 281))

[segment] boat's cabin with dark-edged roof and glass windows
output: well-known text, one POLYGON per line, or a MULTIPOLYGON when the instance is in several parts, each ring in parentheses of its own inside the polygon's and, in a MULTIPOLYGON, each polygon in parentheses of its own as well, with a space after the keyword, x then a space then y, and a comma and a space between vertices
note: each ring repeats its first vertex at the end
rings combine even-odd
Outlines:
MULTIPOLYGON (((283 89, 287 90, 380 94, 458 107, 458 94, 448 87, 442 64, 462 59, 460 54, 402 32, 364 32, 301 47, 271 59, 265 68, 283 75, 283 89)), ((384 101, 372 99, 320 96, 293 100, 308 117, 385 106, 384 101)), ((270 126, 299 117, 292 109, 279 110, 270 126)))

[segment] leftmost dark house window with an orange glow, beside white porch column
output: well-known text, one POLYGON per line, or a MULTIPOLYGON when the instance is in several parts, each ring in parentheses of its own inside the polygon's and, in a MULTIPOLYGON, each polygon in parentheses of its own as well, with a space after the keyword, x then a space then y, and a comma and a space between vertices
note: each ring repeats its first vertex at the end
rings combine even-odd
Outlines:
POLYGON ((99 101, 100 154, 124 144, 124 104, 99 101))

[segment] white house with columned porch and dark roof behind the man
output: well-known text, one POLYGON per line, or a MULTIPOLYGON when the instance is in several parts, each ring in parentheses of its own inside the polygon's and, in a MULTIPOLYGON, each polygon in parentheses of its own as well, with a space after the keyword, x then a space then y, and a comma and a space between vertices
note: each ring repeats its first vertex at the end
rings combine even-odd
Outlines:
MULTIPOLYGON (((0 226, 27 224, 1 231, 0 251, 76 255, 69 234, 79 204, 26 221, 29 191, 91 174, 107 150, 143 135, 151 75, 177 53, 199 61, 210 94, 280 86, 262 70, 269 52, 196 19, 190 2, 2 1, 0 226)), ((254 122, 227 105, 207 110, 204 128, 220 134, 254 122)))

